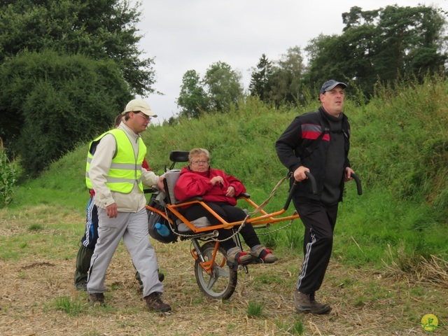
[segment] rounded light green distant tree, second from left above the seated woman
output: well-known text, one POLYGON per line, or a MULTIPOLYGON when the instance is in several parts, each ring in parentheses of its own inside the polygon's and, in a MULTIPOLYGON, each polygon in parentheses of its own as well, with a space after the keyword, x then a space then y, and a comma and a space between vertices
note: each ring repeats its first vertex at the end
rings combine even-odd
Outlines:
POLYGON ((210 108, 218 112, 226 112, 243 94, 241 74, 225 62, 211 64, 202 84, 206 87, 210 108))

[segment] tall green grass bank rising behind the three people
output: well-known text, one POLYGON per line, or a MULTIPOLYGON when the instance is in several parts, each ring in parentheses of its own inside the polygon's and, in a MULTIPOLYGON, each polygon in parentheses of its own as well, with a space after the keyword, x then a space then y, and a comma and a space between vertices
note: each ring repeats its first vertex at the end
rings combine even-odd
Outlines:
MULTIPOLYGON (((364 193, 358 197, 355 184, 347 184, 333 255, 354 265, 372 262, 378 267, 389 258, 406 260, 405 267, 418 255, 444 258, 448 253, 442 235, 448 229, 448 82, 426 78, 422 85, 402 84, 398 90, 377 92, 365 105, 347 97, 351 163, 363 181, 364 193)), ((317 107, 316 99, 311 99, 305 107, 274 109, 254 97, 240 101, 229 113, 151 126, 143 134, 148 162, 161 174, 169 165, 170 151, 208 148, 211 166, 239 177, 254 202, 261 204, 286 175, 274 150, 276 139, 297 114, 317 107)), ((39 179, 21 186, 9 207, 58 204, 82 214, 88 198, 86 153, 84 144, 55 162, 39 179)), ((267 211, 283 207, 287 184, 277 190, 267 211)), ((302 235, 297 221, 260 237, 268 246, 301 249, 302 235)))

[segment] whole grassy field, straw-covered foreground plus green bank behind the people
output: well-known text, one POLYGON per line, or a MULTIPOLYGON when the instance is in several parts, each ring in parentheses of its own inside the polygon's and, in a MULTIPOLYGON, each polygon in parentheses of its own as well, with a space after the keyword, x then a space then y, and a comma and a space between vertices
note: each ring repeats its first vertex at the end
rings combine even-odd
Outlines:
MULTIPOLYGON (((332 305, 326 316, 294 311, 300 221, 260 236, 280 260, 239 272, 230 300, 202 295, 188 242, 153 241, 172 313, 144 309, 123 245, 106 277, 107 306, 90 307, 86 293, 73 290, 88 198, 87 144, 80 144, 38 179, 22 177, 14 202, 0 209, 0 335, 423 335, 426 314, 448 324, 447 106, 441 78, 393 93, 380 89, 369 104, 348 100, 351 163, 364 193, 356 195, 349 183, 339 208, 318 292, 332 305)), ((297 114, 316 107, 274 109, 249 99, 230 113, 150 127, 148 162, 162 173, 169 151, 209 148, 212 167, 238 176, 260 204, 286 174, 276 138, 297 114)), ((284 183, 267 211, 280 209, 286 193, 284 183)), ((448 335, 448 328, 433 334, 448 335)))

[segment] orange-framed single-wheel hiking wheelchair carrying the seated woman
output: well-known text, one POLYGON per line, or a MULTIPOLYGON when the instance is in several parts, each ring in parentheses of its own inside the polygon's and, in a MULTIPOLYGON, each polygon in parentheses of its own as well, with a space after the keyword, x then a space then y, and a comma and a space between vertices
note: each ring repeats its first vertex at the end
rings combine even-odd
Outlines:
MULTIPOLYGON (((239 195, 239 197, 237 197, 238 200, 243 200, 243 202, 247 203, 248 206, 255 210, 250 216, 247 211, 248 216, 246 216, 244 221, 228 223, 221 218, 221 216, 218 216, 215 211, 209 208, 207 204, 202 202, 202 197, 194 197, 185 202, 178 202, 174 197, 174 185, 180 175, 180 169, 174 169, 174 166, 178 162, 188 162, 188 153, 189 152, 187 151, 172 151, 170 153, 169 160, 172 161, 172 165, 169 169, 165 167, 165 195, 162 193, 153 193, 146 209, 148 209, 148 214, 158 214, 165 219, 165 223, 167 223, 169 230, 171 230, 171 233, 174 236, 174 239, 172 239, 173 242, 178 238, 181 241, 187 239, 191 241, 193 248, 190 252, 195 259, 195 277, 197 285, 202 292, 208 297, 216 300, 227 300, 232 296, 237 286, 238 269, 244 269, 244 271, 248 273, 247 265, 257 264, 262 262, 262 260, 253 258, 253 260, 246 265, 238 265, 237 263, 228 262, 225 248, 220 245, 217 230, 221 228, 232 230, 232 239, 234 239, 237 246, 241 248, 241 238, 239 236, 239 228, 241 228, 241 225, 250 223, 256 230, 259 228, 269 228, 271 224, 276 224, 282 221, 290 221, 290 223, 292 223, 292 221, 299 218, 296 211, 289 216, 282 215, 285 214, 289 207, 293 197, 295 184, 290 188, 290 193, 283 209, 269 214, 262 209, 267 201, 258 207, 258 205, 250 199, 250 195, 239 195), (155 199, 158 199, 158 202, 155 202, 155 199), (198 218, 195 221, 188 221, 179 210, 181 207, 195 203, 201 204, 202 207, 218 218, 221 224, 210 225, 208 219, 205 217, 198 218), (161 205, 163 207, 161 207, 161 205)), ((289 176, 290 174, 288 174, 282 181, 286 180, 289 176)), ((313 192, 317 193, 314 177, 308 173, 307 176, 311 181, 313 192)), ((281 182, 277 183, 277 186, 279 186, 281 182)), ((275 189, 276 188, 274 188, 274 190, 275 189)), ((358 193, 359 192, 360 190, 358 188, 358 193)), ((271 197, 273 193, 271 193, 271 197)))

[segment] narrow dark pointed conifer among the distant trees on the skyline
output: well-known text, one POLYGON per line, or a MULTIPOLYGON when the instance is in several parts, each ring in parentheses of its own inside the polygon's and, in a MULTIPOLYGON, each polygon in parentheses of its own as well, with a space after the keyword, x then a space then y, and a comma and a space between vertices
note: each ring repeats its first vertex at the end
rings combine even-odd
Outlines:
POLYGON ((262 54, 256 69, 251 74, 251 83, 249 83, 251 96, 260 97, 262 102, 269 100, 269 92, 271 90, 269 80, 272 72, 272 62, 267 59, 265 54, 262 54))

